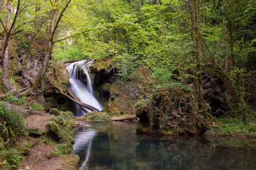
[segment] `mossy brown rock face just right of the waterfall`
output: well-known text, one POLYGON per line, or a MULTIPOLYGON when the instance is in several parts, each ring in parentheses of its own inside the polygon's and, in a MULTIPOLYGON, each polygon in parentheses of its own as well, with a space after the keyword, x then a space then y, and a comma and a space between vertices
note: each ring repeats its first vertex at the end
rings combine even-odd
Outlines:
POLYGON ((110 98, 104 106, 109 115, 135 115, 136 103, 150 94, 156 82, 147 66, 140 66, 128 80, 119 80, 110 87, 110 98))

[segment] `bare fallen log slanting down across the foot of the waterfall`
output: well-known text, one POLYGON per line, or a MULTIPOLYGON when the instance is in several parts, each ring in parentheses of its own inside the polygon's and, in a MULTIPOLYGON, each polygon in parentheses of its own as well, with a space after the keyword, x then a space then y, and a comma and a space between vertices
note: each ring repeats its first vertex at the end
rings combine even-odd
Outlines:
POLYGON ((88 109, 88 110, 96 110, 96 111, 99 111, 97 108, 94 108, 93 106, 90 106, 89 104, 85 104, 81 101, 79 101, 76 97, 76 95, 71 91, 71 90, 67 90, 68 91, 68 94, 65 94, 65 92, 63 92, 62 89, 60 89, 60 87, 55 87, 56 89, 58 89, 60 91, 61 94, 63 94, 63 96, 66 96, 68 97, 68 99, 70 99, 71 101, 73 101, 74 103, 78 104, 79 106, 81 106, 82 110, 85 111, 85 112, 88 112, 86 111, 84 108, 88 109))

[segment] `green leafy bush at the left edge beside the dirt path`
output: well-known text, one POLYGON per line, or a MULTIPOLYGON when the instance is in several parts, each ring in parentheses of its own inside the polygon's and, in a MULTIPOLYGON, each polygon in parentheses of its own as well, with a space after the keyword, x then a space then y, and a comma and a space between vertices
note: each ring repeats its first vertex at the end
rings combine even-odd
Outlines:
POLYGON ((0 103, 0 132, 1 137, 7 143, 10 138, 15 138, 18 134, 24 132, 24 117, 14 108, 10 108, 0 103))

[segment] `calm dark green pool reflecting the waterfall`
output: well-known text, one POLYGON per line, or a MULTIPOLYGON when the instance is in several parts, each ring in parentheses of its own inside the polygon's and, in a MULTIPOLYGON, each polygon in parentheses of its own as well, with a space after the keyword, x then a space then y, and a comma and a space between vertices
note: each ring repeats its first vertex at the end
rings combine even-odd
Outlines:
POLYGON ((135 128, 129 122, 79 127, 73 146, 79 169, 256 169, 254 140, 152 136, 135 128))

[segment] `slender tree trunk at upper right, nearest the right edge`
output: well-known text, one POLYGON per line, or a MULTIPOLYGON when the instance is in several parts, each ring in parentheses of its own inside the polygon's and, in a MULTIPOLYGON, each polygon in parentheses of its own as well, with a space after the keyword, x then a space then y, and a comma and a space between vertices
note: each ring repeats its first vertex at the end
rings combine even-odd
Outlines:
POLYGON ((226 59, 225 59, 225 73, 228 74, 228 65, 229 65, 229 53, 228 53, 228 31, 227 31, 227 23, 225 16, 225 0, 222 0, 222 12, 223 12, 223 28, 225 31, 225 41, 226 41, 226 59))

